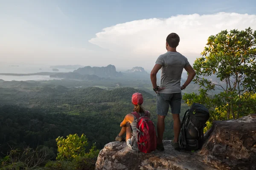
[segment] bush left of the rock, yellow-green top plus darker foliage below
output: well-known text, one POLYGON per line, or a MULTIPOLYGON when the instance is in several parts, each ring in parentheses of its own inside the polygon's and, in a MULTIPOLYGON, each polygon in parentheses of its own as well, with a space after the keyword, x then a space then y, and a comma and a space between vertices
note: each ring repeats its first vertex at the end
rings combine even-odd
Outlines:
POLYGON ((84 134, 79 137, 77 134, 70 134, 66 139, 58 137, 57 161, 49 161, 45 170, 93 170, 99 154, 96 145, 93 144, 89 152, 86 152, 88 145, 84 134))

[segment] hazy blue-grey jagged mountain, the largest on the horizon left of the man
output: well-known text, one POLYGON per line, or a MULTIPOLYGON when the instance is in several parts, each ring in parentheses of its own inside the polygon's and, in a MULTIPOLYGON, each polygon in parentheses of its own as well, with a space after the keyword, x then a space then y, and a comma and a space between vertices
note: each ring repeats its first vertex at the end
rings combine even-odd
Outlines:
POLYGON ((116 71, 114 65, 108 65, 107 67, 90 67, 86 66, 83 68, 78 68, 73 71, 73 73, 79 73, 82 75, 96 75, 98 77, 121 77, 122 73, 116 71))

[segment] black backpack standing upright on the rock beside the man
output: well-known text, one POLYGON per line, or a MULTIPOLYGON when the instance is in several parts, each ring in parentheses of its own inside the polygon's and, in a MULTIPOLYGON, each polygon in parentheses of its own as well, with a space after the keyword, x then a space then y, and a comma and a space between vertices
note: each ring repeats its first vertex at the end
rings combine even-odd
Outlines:
POLYGON ((209 110, 199 103, 193 103, 186 111, 180 130, 180 148, 183 150, 198 150, 204 142, 204 127, 209 119, 209 110))

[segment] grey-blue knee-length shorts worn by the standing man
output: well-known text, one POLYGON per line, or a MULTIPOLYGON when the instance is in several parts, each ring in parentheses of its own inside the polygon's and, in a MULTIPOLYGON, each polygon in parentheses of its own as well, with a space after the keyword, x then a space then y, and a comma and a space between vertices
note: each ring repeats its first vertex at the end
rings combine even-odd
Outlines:
POLYGON ((157 115, 166 116, 171 106, 172 114, 180 114, 181 93, 157 94, 157 115))

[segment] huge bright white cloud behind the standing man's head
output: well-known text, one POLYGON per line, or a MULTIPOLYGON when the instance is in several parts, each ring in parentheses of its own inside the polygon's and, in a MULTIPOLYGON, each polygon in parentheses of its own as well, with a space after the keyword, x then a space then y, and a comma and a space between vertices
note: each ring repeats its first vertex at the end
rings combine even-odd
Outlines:
POLYGON ((89 42, 109 49, 123 58, 137 59, 144 66, 166 52, 165 40, 169 33, 180 36, 177 51, 186 55, 190 62, 200 57, 207 38, 221 30, 245 29, 256 30, 256 15, 237 13, 218 13, 208 15, 177 15, 165 19, 135 20, 104 28, 89 42))

